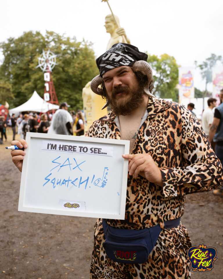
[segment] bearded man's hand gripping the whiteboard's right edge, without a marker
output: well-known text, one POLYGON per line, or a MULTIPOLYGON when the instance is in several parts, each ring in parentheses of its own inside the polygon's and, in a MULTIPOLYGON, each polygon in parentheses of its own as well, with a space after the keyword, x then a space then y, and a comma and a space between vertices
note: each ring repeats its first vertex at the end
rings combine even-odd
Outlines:
POLYGON ((129 175, 141 175, 148 181, 163 186, 161 171, 149 154, 125 154, 122 157, 129 159, 129 175))

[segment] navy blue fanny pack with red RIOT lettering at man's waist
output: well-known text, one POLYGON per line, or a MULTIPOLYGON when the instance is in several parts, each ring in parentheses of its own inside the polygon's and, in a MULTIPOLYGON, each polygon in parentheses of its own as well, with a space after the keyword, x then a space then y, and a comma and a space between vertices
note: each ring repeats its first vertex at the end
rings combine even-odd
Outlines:
MULTIPOLYGON (((164 222, 164 228, 179 226, 180 217, 164 222)), ((160 225, 142 230, 114 228, 103 219, 105 242, 103 246, 107 256, 115 261, 127 264, 142 264, 148 260, 161 232, 160 225)))

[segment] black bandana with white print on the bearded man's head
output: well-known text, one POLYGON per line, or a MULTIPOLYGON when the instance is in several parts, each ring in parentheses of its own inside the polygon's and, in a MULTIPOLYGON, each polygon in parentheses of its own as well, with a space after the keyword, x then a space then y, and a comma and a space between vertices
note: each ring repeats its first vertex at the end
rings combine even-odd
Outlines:
POLYGON ((131 44, 114 44, 109 50, 96 59, 96 64, 102 77, 105 72, 121 66, 130 66, 139 60, 147 61, 148 55, 140 52, 131 44))

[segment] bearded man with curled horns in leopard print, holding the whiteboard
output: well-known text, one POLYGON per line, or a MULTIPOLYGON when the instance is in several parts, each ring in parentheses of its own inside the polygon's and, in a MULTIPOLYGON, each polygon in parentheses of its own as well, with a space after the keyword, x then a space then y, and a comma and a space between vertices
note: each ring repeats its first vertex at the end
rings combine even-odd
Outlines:
MULTIPOLYGON (((146 60, 145 53, 124 43, 96 60, 100 75, 91 81, 91 90, 112 111, 96 120, 86 136, 130 140, 130 154, 123 155, 129 160, 125 220, 96 221, 91 279, 190 278, 191 241, 180 222, 185 195, 223 184, 221 163, 196 117, 184 105, 152 95, 152 69, 146 60), (111 241, 116 248, 108 255, 105 238, 114 230, 125 244, 134 241, 133 234, 149 230, 149 253, 137 245, 124 252, 111 241), (138 260, 138 252, 144 260, 138 260)), ((24 140, 11 144, 27 148, 24 140)), ((21 171, 24 151, 11 154, 21 171)))

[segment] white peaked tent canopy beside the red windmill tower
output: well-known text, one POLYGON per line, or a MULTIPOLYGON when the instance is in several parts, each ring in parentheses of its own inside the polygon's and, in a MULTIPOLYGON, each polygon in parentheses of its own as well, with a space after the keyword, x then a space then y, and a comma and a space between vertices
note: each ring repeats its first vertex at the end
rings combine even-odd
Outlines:
POLYGON ((9 114, 12 113, 18 114, 22 111, 35 111, 35 112, 47 112, 48 110, 57 110, 59 105, 53 105, 47 103, 42 99, 36 91, 33 92, 31 98, 22 105, 19 105, 17 108, 12 108, 9 110, 9 114))

